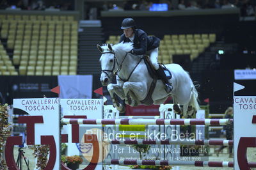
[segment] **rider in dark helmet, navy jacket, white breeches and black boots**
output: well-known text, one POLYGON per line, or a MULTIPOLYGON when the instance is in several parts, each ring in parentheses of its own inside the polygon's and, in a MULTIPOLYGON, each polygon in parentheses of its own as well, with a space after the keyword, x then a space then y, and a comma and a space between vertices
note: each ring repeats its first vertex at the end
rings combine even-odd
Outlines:
POLYGON ((148 55, 150 61, 154 66, 159 77, 161 77, 165 87, 166 93, 172 92, 172 84, 168 81, 164 70, 157 63, 158 57, 158 47, 160 40, 155 36, 147 36, 141 29, 136 29, 135 21, 131 18, 126 18, 122 22, 121 29, 124 29, 124 34, 120 36, 119 42, 133 42, 134 47, 131 50, 131 53, 134 55, 148 55))

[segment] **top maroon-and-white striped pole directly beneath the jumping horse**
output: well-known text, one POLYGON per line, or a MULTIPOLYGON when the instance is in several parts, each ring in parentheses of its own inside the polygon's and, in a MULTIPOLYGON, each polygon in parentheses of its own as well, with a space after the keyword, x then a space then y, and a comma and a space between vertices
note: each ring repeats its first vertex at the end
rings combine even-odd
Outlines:
POLYGON ((61 119, 65 124, 87 125, 227 125, 232 119, 61 119))

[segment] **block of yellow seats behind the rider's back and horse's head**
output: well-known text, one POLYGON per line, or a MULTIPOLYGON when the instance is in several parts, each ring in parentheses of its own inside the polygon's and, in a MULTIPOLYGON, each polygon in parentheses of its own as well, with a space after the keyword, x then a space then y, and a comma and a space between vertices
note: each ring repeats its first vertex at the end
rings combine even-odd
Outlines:
MULTIPOLYGON (((120 36, 111 35, 106 43, 118 43, 120 36)), ((159 62, 172 63, 172 56, 189 54, 191 61, 216 41, 215 34, 164 35, 159 47, 159 62)))

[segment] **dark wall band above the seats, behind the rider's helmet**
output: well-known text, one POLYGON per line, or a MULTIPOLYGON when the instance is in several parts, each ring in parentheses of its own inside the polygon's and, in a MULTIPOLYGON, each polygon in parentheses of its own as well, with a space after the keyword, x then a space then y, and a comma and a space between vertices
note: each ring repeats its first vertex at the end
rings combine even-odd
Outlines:
MULTIPOLYGON (((122 20, 127 16, 102 16, 102 27, 106 36, 120 35, 122 20)), ((182 16, 140 16, 132 17, 138 28, 148 35, 223 33, 239 23, 239 13, 222 15, 182 15, 182 16)))

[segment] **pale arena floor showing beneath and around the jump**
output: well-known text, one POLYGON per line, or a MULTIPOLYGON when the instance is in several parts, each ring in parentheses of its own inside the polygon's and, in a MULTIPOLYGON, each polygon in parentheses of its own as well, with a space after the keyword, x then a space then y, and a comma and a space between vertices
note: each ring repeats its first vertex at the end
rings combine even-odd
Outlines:
MULTIPOLYGON (((24 155, 25 157, 27 157, 29 159, 29 169, 34 169, 35 168, 35 158, 33 156, 33 150, 28 149, 28 148, 24 148, 24 155)), ((209 161, 233 161, 233 158, 228 158, 228 154, 227 154, 227 148, 225 148, 223 150, 223 153, 220 153, 219 157, 216 156, 215 153, 213 153, 213 150, 211 150, 212 155, 209 157, 209 161)), ((15 161, 17 160, 17 156, 18 156, 18 148, 15 147, 14 148, 14 158, 15 161)), ((256 160, 256 148, 248 148, 247 150, 247 157, 248 157, 248 161, 249 162, 255 162, 256 160)), ((80 166, 81 169, 84 168, 83 165, 80 166)), ((22 169, 26 169, 26 164, 23 161, 22 164, 22 169)), ((129 169, 129 167, 120 167, 120 169, 129 169)), ((209 170, 225 170, 225 169, 232 169, 232 168, 223 168, 223 167, 190 167, 190 166, 180 166, 179 167, 180 170, 200 170, 200 169, 209 169, 209 170)), ((253 168, 256 169, 256 168, 253 168)))

